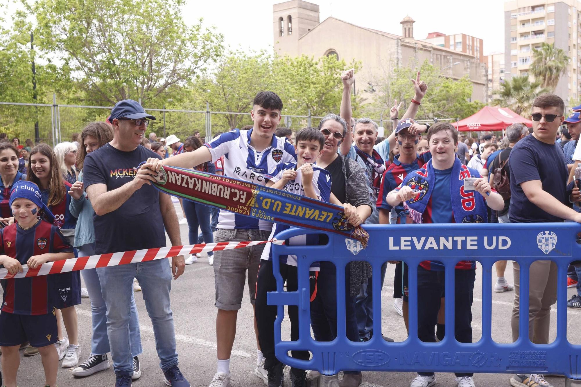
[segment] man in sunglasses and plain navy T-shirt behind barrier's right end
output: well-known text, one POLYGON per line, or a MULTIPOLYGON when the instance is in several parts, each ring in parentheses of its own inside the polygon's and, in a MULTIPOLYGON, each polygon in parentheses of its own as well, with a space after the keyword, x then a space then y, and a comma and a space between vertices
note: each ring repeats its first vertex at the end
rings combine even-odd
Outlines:
MULTIPOLYGON (((508 216, 511 223, 581 222, 581 214, 571 208, 579 201, 579 189, 566 184, 567 167, 555 135, 564 121, 565 103, 554 94, 537 96, 533 101, 533 133, 514 145, 510 153, 511 202, 508 216)), ((512 340, 518 339, 520 300, 520 267, 513 263, 515 299, 512 307, 512 340)), ((530 265, 529 339, 547 344, 551 322, 551 305, 557 302, 557 265, 550 260, 530 265)), ((524 312, 526 316, 526 311, 524 312)), ((541 374, 515 374, 511 385, 528 381, 551 386, 541 374)))

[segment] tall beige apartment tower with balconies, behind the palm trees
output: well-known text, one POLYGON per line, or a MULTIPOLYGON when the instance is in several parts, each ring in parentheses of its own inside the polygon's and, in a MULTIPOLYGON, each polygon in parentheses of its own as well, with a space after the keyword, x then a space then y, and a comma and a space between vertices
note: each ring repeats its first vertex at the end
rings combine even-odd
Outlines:
POLYGON ((505 76, 528 75, 533 48, 543 42, 564 49, 571 59, 555 94, 564 99, 578 99, 581 94, 581 2, 539 2, 514 0, 504 3, 505 76))

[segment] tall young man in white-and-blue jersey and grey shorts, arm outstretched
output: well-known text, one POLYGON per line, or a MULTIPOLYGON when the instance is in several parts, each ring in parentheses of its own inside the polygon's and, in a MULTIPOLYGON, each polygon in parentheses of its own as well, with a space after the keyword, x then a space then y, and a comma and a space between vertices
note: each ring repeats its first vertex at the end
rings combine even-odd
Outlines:
MULTIPOLYGON (((266 176, 279 163, 295 162, 295 147, 286 138, 274 132, 281 121, 282 101, 272 91, 261 91, 254 97, 250 117, 250 130, 232 130, 221 134, 193 152, 182 153, 168 159, 149 159, 151 169, 163 165, 192 168, 205 162, 216 162, 224 156, 224 175, 266 184, 266 176)), ((220 210, 215 242, 266 241, 272 223, 220 210)), ((242 306, 244 285, 248 273, 250 302, 256 298, 256 278, 264 245, 224 250, 214 253, 214 279, 216 281, 216 343, 218 367, 211 387, 229 387, 230 354, 236 335, 236 316, 242 306)), ((254 319, 257 346, 259 347, 254 374, 267 382, 264 357, 258 344, 258 330, 254 319)))

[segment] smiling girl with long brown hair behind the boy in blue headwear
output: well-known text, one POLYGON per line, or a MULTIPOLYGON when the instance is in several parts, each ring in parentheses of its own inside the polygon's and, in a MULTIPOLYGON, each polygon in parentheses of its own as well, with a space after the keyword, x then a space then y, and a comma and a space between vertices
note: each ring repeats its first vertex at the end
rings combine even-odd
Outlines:
MULTIPOLYGON (((59 226, 64 229, 74 229, 77 218, 70 213, 71 184, 63 179, 56 160, 55 152, 46 144, 38 144, 31 150, 28 167, 28 181, 34 182, 40 188, 42 203, 55 215, 59 226)), ((81 274, 80 271, 60 273, 55 276, 58 281, 59 298, 55 304, 57 319, 62 313, 64 328, 68 338, 65 338, 59 328, 59 342, 56 349, 59 360, 63 359, 62 367, 70 368, 77 365, 81 356, 81 347, 78 345, 78 321, 75 305, 81 303, 81 274)))

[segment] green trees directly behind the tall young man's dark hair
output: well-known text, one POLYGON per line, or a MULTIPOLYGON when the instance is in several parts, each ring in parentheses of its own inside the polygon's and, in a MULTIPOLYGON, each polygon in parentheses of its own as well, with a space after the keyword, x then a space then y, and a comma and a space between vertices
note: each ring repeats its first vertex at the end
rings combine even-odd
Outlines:
MULTIPOLYGON (((349 66, 358 69, 360 64, 349 66)), ((272 56, 264 51, 229 52, 211 74, 196 83, 188 105, 199 109, 208 102, 213 111, 234 112, 213 114, 213 132, 252 124, 250 116, 242 113, 250 113, 254 96, 264 90, 275 91, 281 97, 284 115, 304 116, 310 109, 311 116, 324 116, 339 112, 342 90, 339 76, 346 68, 345 61, 338 61, 335 56, 314 59, 306 55, 272 56)), ((356 100, 354 108, 357 107, 356 100)), ((306 119, 290 120, 293 128, 306 126, 306 119)))

